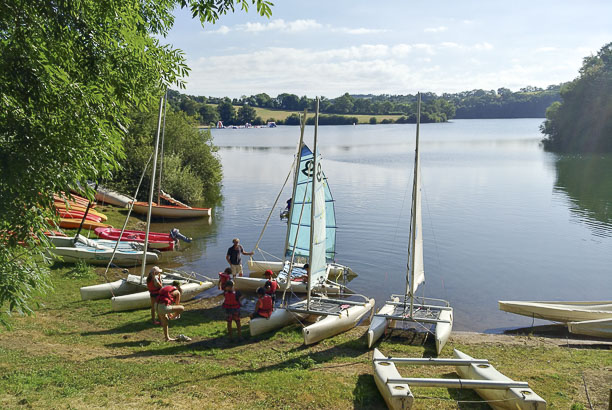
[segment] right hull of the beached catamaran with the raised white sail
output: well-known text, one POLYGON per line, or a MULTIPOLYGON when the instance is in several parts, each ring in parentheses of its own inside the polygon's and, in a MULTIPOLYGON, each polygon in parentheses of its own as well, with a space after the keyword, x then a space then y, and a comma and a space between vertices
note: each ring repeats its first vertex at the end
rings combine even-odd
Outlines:
POLYGON ((374 299, 370 299, 362 305, 353 305, 342 310, 340 316, 324 316, 312 325, 306 326, 302 329, 304 344, 317 343, 354 328, 361 318, 374 308, 374 304, 374 299))

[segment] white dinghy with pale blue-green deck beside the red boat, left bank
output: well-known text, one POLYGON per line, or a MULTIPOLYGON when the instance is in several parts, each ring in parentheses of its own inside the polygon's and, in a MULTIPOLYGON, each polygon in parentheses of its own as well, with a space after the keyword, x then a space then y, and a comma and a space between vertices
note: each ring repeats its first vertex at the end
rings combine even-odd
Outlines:
MULTIPOLYGON (((119 242, 115 252, 116 241, 88 239, 82 235, 76 238, 52 235, 49 240, 54 245, 48 249, 49 255, 64 262, 84 261, 106 265, 112 257, 117 266, 135 266, 145 258, 142 246, 134 242, 119 242)), ((146 263, 155 263, 158 259, 156 253, 146 253, 146 263)))

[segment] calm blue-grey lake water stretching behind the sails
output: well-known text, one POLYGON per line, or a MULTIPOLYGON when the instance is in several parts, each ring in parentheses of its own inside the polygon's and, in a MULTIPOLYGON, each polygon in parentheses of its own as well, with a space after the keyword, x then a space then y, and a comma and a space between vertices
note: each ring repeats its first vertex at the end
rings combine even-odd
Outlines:
MULTIPOLYGON (((612 161, 561 157, 539 146, 542 120, 456 120, 421 126, 426 283, 447 299, 455 329, 499 331, 531 319, 497 301, 612 297, 612 161)), ((337 261, 349 286, 381 306, 405 287, 414 125, 325 126, 320 151, 338 220, 337 261)), ((307 129, 312 143, 313 129, 307 129)), ((278 194, 298 127, 214 130, 224 199, 208 221, 176 225, 194 243, 166 266, 225 268, 234 236, 251 250, 278 194)), ((260 248, 282 254, 281 195, 260 248)), ((244 262, 246 268, 246 261, 244 262)))

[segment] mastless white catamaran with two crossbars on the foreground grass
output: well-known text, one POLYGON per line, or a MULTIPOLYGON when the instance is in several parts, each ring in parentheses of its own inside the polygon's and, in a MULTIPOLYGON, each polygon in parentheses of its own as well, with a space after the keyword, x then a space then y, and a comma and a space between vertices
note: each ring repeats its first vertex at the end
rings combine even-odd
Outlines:
POLYGON ((546 409, 546 401, 526 382, 517 382, 497 371, 486 359, 455 349, 453 359, 385 357, 374 349, 374 381, 390 409, 410 409, 414 396, 410 386, 473 389, 494 409, 546 409), (402 377, 396 364, 455 366, 459 379, 402 377))

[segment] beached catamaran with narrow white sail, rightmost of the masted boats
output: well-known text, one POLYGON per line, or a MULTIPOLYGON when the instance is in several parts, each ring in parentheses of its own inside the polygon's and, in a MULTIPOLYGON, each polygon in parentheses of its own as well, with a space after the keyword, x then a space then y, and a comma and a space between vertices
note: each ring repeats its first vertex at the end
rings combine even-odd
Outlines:
POLYGON ((425 281, 423 266, 423 227, 421 218, 421 170, 419 153, 419 128, 421 122, 421 94, 417 100, 416 147, 414 155, 414 179, 412 183, 412 210, 410 215, 410 239, 406 271, 406 291, 403 295, 391 295, 389 301, 374 315, 368 329, 368 347, 384 334, 389 325, 413 322, 435 325, 436 351, 442 351, 453 327, 453 308, 450 303, 433 298, 417 297, 416 291, 425 281))

